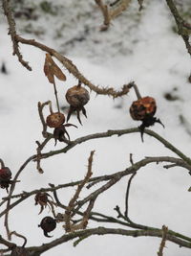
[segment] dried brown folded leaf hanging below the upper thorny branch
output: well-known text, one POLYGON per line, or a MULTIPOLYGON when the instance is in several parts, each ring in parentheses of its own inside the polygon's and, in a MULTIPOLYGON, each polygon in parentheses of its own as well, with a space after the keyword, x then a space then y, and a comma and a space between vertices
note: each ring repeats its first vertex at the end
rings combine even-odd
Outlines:
POLYGON ((46 54, 44 73, 51 83, 54 83, 53 76, 55 76, 58 80, 66 81, 66 76, 64 75, 62 70, 57 66, 57 64, 53 61, 53 58, 50 54, 46 54))

